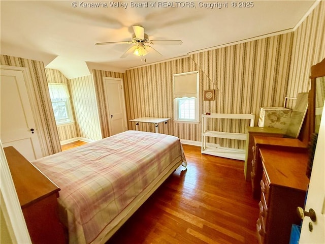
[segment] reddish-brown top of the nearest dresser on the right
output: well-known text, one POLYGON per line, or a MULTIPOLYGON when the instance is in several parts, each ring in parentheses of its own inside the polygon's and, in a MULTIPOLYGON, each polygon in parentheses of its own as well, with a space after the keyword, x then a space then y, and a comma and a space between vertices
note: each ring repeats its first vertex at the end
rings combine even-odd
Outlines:
POLYGON ((259 153, 271 185, 307 190, 307 153, 270 147, 259 148, 259 153))

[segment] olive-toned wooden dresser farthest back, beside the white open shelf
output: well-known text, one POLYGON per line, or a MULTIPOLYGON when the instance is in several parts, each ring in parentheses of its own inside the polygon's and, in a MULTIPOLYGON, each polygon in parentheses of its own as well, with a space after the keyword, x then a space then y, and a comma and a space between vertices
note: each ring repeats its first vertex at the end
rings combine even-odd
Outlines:
POLYGON ((252 160, 253 151, 252 146, 254 145, 254 136, 268 136, 268 137, 283 137, 284 132, 278 128, 269 127, 247 127, 246 128, 246 157, 245 157, 245 167, 244 176, 246 181, 251 180, 252 171, 252 160))

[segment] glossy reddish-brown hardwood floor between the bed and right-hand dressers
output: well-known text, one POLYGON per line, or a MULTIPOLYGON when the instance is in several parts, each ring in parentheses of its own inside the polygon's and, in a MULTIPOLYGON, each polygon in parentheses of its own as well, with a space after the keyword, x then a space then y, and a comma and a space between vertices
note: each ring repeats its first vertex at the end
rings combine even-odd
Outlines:
POLYGON ((187 171, 178 168, 106 244, 257 243, 244 162, 183 148, 187 171))

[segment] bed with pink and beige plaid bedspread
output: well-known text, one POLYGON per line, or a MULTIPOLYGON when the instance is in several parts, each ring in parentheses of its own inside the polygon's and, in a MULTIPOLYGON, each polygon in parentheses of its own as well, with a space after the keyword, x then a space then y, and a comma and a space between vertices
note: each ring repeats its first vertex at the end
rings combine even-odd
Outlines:
POLYGON ((61 190, 69 243, 105 243, 186 159, 179 138, 125 131, 31 162, 61 190))

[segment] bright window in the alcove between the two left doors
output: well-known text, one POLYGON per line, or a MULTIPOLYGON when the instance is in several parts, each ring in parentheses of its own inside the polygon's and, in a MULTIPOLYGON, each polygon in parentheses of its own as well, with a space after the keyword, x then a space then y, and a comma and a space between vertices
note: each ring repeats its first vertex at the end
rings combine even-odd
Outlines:
POLYGON ((66 84, 49 83, 56 125, 73 123, 70 95, 66 84))

